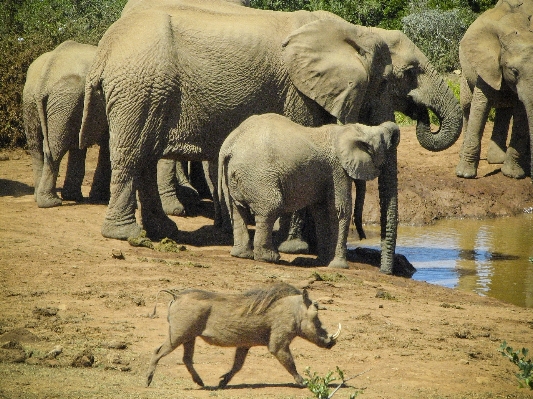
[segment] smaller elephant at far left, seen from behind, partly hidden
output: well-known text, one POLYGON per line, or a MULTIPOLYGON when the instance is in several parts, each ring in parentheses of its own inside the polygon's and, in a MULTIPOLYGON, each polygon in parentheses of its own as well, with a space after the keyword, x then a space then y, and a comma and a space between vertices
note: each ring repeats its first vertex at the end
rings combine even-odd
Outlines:
MULTIPOLYGON (((56 193, 59 165, 67 153, 68 165, 61 191, 64 200, 83 200, 86 149, 80 149, 85 76, 96 47, 66 41, 32 62, 22 93, 24 128, 32 158, 35 200, 40 208, 59 206, 56 193)), ((87 130, 99 143, 100 152, 89 198, 109 199, 111 165, 104 103, 95 104, 87 130)))

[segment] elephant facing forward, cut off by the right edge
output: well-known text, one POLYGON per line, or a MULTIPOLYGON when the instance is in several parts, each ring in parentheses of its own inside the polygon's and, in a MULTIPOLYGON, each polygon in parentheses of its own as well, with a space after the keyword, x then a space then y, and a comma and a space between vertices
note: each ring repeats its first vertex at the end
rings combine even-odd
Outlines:
POLYGON ((503 162, 502 173, 511 178, 523 178, 525 169, 530 169, 525 156, 533 117, 531 13, 532 1, 500 1, 472 23, 461 40, 460 101, 465 135, 456 167, 459 177, 477 175, 481 137, 492 107, 496 108, 496 118, 487 160, 503 162), (506 148, 511 117, 511 139, 506 148))

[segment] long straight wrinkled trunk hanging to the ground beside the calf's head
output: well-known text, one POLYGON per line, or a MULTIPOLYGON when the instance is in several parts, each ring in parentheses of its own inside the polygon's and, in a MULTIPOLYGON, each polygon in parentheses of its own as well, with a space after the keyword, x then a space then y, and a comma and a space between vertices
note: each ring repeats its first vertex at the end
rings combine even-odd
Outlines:
POLYGON ((381 268, 393 274, 394 253, 398 231, 398 161, 397 150, 391 148, 378 178, 381 220, 381 268))

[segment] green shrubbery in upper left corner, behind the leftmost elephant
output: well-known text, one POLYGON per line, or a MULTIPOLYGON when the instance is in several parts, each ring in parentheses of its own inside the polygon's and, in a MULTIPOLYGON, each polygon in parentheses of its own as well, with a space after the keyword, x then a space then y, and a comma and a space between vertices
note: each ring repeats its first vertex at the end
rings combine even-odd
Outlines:
POLYGON ((3 0, 0 7, 0 148, 26 143, 22 89, 30 64, 65 40, 97 44, 126 0, 3 0))

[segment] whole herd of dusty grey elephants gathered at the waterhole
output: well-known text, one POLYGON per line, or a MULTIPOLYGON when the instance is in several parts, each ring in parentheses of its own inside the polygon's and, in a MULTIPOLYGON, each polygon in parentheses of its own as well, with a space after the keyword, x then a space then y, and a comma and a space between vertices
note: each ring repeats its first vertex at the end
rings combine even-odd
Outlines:
POLYGON ((173 237, 168 215, 182 215, 198 198, 185 167, 196 165, 215 223, 233 226, 233 256, 276 262, 279 251, 308 251, 310 215, 317 264, 346 268, 352 215, 364 237, 365 184, 378 178, 381 271, 392 274, 394 112, 417 121, 417 139, 430 151, 464 132, 456 174, 474 178, 495 108, 488 161, 502 163, 510 178, 530 174, 532 14, 533 0, 500 0, 472 23, 460 43, 457 100, 398 30, 326 11, 259 10, 247 0, 129 0, 98 46, 66 41, 28 69, 23 114, 35 200, 61 205, 56 180, 67 152, 61 197, 82 200, 87 147, 98 144, 90 199, 108 204, 102 234, 173 237))

